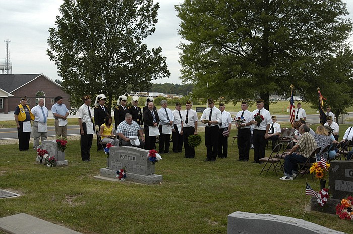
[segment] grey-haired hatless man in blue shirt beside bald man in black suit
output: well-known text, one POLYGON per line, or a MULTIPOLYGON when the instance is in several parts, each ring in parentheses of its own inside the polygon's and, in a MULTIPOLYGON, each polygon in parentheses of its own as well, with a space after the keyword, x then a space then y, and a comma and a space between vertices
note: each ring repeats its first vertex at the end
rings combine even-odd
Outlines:
POLYGON ((162 108, 158 110, 159 116, 159 154, 169 153, 170 134, 174 129, 174 115, 168 107, 168 102, 160 102, 162 108))

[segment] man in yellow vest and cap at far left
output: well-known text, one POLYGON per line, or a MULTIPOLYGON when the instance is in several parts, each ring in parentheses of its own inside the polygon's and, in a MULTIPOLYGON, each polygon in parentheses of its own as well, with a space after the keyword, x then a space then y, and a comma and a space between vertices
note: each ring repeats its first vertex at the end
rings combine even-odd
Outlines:
POLYGON ((20 105, 16 107, 14 116, 17 125, 19 150, 27 151, 31 138, 31 120, 34 120, 34 115, 27 105, 27 96, 21 97, 20 105))

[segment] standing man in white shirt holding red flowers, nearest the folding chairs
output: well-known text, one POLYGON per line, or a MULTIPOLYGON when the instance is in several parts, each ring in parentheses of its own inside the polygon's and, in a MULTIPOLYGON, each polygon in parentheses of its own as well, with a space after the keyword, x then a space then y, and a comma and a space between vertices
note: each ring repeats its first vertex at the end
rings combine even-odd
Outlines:
POLYGON ((253 111, 254 124, 254 161, 253 163, 261 164, 259 160, 265 157, 266 139, 268 138, 268 131, 270 130, 270 125, 272 124, 271 114, 268 110, 264 108, 264 100, 257 100, 257 109, 253 111))

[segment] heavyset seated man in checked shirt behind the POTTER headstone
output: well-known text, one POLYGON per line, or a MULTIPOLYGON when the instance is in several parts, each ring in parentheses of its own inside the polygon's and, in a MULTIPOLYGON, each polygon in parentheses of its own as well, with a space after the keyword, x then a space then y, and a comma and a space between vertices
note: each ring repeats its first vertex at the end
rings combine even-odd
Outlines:
POLYGON ((116 133, 121 140, 122 146, 134 146, 143 148, 145 146, 145 138, 142 129, 138 123, 132 120, 130 113, 125 114, 125 120, 117 126, 116 133), (140 139, 138 137, 141 137, 140 139))

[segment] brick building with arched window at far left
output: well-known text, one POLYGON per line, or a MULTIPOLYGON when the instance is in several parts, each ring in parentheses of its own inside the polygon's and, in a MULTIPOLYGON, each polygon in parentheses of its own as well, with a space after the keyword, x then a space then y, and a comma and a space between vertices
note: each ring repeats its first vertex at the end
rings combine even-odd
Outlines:
POLYGON ((44 74, 0 74, 0 113, 15 111, 23 96, 27 96, 30 108, 38 105, 39 98, 44 98, 48 110, 55 104, 54 98, 62 96, 63 103, 71 109, 70 96, 44 74))

